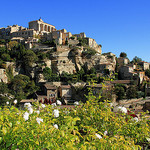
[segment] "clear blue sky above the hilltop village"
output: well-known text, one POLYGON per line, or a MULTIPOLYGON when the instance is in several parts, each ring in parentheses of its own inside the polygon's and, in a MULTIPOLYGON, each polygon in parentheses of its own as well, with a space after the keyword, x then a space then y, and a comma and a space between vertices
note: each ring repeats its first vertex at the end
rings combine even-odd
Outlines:
POLYGON ((85 32, 102 52, 150 62, 150 0, 7 0, 1 1, 0 27, 40 17, 71 33, 85 32))

